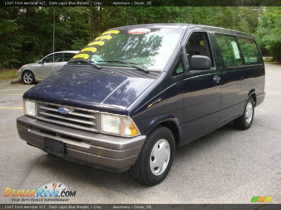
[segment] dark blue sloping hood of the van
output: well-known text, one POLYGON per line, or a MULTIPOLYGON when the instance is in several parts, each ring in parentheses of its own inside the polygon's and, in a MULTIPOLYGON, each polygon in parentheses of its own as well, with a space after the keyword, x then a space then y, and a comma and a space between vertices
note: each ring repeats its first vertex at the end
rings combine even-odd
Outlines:
POLYGON ((24 99, 124 114, 155 79, 57 71, 29 89, 24 99))

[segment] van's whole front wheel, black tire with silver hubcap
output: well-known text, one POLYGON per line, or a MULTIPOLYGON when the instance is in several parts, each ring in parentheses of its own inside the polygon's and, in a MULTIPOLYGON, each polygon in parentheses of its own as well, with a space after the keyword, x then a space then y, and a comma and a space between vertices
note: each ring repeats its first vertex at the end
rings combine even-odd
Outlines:
POLYGON ((138 160, 129 169, 131 178, 143 185, 153 186, 168 175, 175 155, 172 132, 164 126, 151 131, 143 145, 138 160))

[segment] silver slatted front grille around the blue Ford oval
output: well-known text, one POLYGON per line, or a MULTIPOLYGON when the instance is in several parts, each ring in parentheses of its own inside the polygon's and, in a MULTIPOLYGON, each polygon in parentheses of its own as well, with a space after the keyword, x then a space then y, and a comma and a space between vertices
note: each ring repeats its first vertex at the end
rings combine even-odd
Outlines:
POLYGON ((40 102, 37 102, 36 109, 38 119, 83 130, 95 132, 99 130, 98 112, 40 102), (68 112, 60 113, 60 107, 66 108, 68 112))

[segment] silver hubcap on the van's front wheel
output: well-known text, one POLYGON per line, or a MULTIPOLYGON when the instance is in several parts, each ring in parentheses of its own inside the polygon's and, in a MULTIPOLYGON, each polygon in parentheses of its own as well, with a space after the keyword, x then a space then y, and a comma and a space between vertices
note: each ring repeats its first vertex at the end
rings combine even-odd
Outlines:
POLYGON ((150 154, 150 171, 159 176, 167 168, 170 159, 170 145, 166 139, 160 139, 155 143, 150 154))

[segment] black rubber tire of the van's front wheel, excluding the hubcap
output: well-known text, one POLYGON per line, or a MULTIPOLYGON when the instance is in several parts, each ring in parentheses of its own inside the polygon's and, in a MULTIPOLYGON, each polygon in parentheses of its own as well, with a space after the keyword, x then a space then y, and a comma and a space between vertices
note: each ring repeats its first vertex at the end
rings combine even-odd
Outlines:
MULTIPOLYGON (((158 147, 159 148, 159 147, 158 147)), ((168 175, 175 155, 175 140, 172 132, 164 126, 157 126, 146 137, 143 148, 136 163, 130 167, 129 174, 131 178, 143 185, 153 186, 162 182, 168 175), (150 170, 150 155, 155 144, 165 139, 169 143, 170 157, 166 168, 162 174, 155 176, 150 170)))

